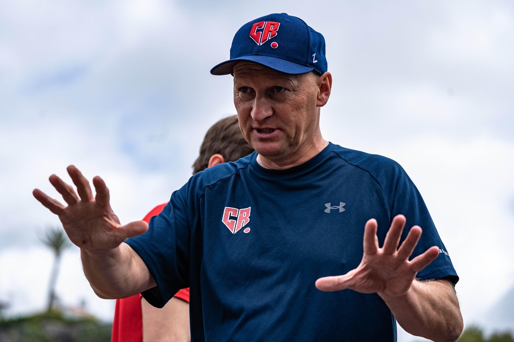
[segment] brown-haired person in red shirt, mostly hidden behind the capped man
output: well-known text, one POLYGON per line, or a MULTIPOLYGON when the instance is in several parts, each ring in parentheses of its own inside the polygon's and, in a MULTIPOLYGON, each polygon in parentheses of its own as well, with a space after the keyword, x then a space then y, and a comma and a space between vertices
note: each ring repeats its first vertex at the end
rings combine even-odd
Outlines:
MULTIPOLYGON (((207 131, 200 155, 193 164, 193 175, 225 162, 248 156, 253 148, 241 134, 237 116, 219 120, 207 131)), ((153 208, 143 218, 146 223, 167 203, 153 208)), ((189 289, 178 291, 162 308, 152 307, 140 294, 116 300, 113 342, 189 341, 189 289)))

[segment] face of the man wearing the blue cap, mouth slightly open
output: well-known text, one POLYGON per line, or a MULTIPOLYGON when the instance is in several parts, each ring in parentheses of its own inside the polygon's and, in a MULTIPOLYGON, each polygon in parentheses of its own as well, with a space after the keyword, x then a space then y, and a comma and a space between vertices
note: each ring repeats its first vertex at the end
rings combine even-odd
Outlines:
POLYGON ((263 157, 299 159, 319 132, 318 75, 290 75, 239 62, 234 104, 246 141, 263 157))

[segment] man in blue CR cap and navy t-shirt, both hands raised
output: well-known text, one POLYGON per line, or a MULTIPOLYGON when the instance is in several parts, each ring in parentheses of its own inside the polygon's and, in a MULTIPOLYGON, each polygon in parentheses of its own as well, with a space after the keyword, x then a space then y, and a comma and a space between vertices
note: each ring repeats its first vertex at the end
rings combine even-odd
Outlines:
POLYGON ((393 341, 395 319, 456 340, 458 277, 416 187, 394 161, 321 135, 332 87, 323 36, 270 14, 237 31, 211 73, 233 75, 256 152, 193 176, 150 229, 121 225, 102 179, 93 198, 74 166, 78 196, 50 176, 67 207, 34 190, 81 248, 95 292, 142 292, 162 307, 190 286, 192 341, 393 341))

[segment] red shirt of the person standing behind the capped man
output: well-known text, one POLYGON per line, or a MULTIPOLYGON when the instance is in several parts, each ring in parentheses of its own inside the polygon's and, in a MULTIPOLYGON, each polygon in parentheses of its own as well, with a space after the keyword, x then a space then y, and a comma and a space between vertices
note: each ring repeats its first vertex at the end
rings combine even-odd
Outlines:
MULTIPOLYGON (((152 216, 159 215, 168 203, 157 205, 148 213, 143 221, 150 222, 152 216)), ((189 303, 189 288, 182 289, 175 294, 189 303)), ((111 342, 142 342, 143 341, 143 313, 141 311, 141 294, 132 297, 116 299, 114 311, 113 335, 111 342)))

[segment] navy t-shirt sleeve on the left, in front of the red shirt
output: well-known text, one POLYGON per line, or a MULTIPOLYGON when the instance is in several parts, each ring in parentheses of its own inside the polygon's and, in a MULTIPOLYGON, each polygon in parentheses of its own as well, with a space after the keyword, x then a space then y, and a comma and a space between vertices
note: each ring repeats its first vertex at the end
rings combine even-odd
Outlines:
POLYGON ((154 307, 162 308, 180 289, 189 287, 188 184, 175 191, 148 232, 126 239, 150 270, 157 287, 142 293, 154 307))

